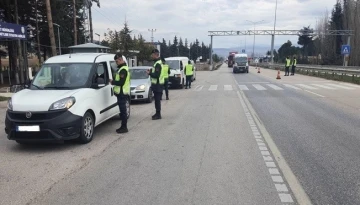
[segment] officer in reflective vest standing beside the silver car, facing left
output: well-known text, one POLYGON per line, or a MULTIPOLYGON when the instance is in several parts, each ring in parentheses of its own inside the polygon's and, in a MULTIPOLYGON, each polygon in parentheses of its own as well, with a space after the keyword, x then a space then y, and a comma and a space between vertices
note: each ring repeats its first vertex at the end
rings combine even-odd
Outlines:
POLYGON ((147 73, 151 77, 151 89, 154 93, 156 113, 152 116, 153 120, 161 119, 161 95, 164 89, 164 73, 162 72, 162 62, 160 60, 160 52, 154 49, 151 52, 151 58, 154 60, 154 66, 147 73))

